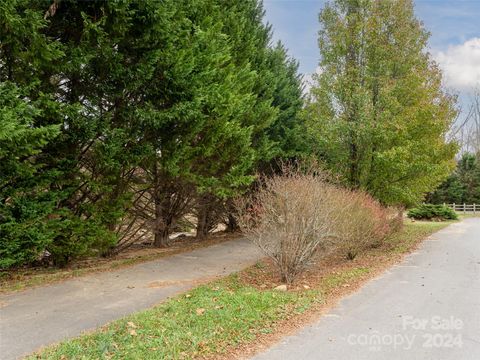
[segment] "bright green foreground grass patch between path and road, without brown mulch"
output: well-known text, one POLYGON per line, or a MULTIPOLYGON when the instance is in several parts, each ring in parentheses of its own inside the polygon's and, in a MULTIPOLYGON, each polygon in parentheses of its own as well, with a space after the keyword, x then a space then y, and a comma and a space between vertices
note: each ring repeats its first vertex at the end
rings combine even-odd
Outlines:
POLYGON ((231 275, 31 359, 190 359, 221 353, 271 332, 276 321, 305 311, 318 294, 258 291, 231 275))

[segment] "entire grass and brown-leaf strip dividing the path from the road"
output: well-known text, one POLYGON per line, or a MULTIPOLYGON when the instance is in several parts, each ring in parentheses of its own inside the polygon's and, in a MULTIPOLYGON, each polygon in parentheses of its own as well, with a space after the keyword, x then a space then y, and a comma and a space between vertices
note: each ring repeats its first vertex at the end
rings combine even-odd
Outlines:
POLYGON ((386 243, 353 261, 335 257, 307 271, 288 291, 263 261, 30 359, 233 358, 253 353, 308 322, 451 222, 408 222, 386 243))

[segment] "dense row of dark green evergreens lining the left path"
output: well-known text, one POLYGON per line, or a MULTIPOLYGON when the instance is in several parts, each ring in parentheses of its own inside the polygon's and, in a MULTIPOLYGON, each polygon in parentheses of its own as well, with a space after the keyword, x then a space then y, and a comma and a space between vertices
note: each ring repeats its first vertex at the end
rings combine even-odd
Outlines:
POLYGON ((257 0, 0 10, 0 266, 107 254, 139 229, 167 245, 195 203, 207 229, 297 151, 297 64, 257 0))

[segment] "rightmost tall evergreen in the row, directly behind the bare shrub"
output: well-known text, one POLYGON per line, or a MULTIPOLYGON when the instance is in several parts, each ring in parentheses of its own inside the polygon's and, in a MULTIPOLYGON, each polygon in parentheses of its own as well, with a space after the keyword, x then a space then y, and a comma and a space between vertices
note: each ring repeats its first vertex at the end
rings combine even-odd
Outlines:
MULTIPOLYGON (((252 102, 239 120, 251 129, 253 161, 247 174, 266 171, 275 159, 299 154, 300 133, 303 131, 298 114, 303 105, 301 76, 298 64, 287 55, 279 43, 271 47, 271 28, 264 23, 264 9, 258 0, 219 1, 222 31, 228 36, 231 58, 237 71, 250 69, 251 83, 245 90, 252 102)), ((218 174, 217 174, 218 176, 218 174)), ((252 178, 250 178, 252 179, 252 178)), ((245 184, 244 184, 245 185, 245 184)), ((221 221, 227 212, 229 228, 235 229, 235 219, 229 213, 230 193, 214 189, 200 194, 197 206, 199 218, 197 236, 204 237, 208 229, 221 221), (212 191, 213 190, 213 191, 212 191)))

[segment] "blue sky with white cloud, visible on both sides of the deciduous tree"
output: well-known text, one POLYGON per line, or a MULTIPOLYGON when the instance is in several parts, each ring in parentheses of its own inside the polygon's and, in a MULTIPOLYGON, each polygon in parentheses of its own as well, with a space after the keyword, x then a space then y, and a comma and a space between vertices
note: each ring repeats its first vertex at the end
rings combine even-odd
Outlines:
MULTIPOLYGON (((274 40, 281 40, 308 78, 319 60, 318 13, 325 0, 264 0, 274 40)), ((430 31, 429 51, 444 72, 444 85, 468 106, 480 88, 480 0, 414 0, 430 31)))

